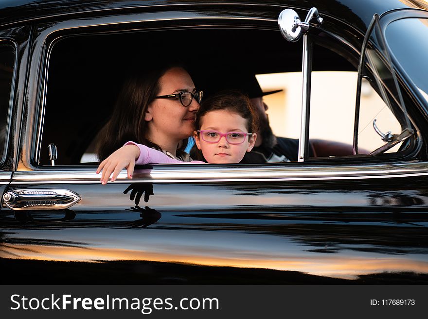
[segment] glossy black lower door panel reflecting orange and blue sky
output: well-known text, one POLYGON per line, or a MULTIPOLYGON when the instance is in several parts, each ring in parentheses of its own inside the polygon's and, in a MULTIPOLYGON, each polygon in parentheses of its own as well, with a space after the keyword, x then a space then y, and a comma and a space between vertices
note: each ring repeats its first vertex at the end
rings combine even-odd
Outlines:
MULTIPOLYGON (((1 255, 73 261, 76 268, 68 276, 79 282, 87 280, 87 262, 95 261, 101 264, 97 276, 89 272, 94 282, 101 282, 104 271, 109 273, 115 267, 137 272, 134 280, 140 283, 197 282, 202 270, 194 274, 189 270, 192 266, 175 268, 175 261, 203 265, 207 276, 214 273, 215 279, 201 279, 201 283, 261 282, 260 277, 250 280, 247 275, 239 276, 240 267, 250 267, 300 270, 300 274, 266 270, 278 283, 361 283, 367 276, 373 277, 368 283, 377 283, 394 273, 396 283, 407 283, 416 276, 417 282, 412 283, 421 284, 427 281, 421 273, 428 272, 422 257, 428 253, 428 192, 423 186, 411 185, 422 181, 406 179, 405 188, 402 178, 391 179, 388 187, 383 180, 354 181, 347 183, 347 189, 333 181, 186 183, 179 187, 151 183, 61 185, 85 194, 85 199, 68 212, 14 213, 3 209, 1 255), (133 191, 137 197, 131 195, 133 191), (153 194, 145 202, 147 192, 153 194), (113 261, 116 259, 123 261, 113 261), (142 267, 141 273, 136 267, 142 267), (168 275, 163 270, 153 270, 158 267, 176 275, 164 278, 168 275), (224 277, 217 278, 219 273, 224 277), (346 281, 329 281, 332 276, 346 281)), ((20 269, 27 263, 17 260, 7 267, 17 265, 20 269)), ((53 262, 39 261, 36 269, 45 266, 55 268, 53 262)), ((244 274, 251 271, 263 273, 261 269, 242 270, 244 274)), ((114 277, 112 281, 120 282, 114 277)))

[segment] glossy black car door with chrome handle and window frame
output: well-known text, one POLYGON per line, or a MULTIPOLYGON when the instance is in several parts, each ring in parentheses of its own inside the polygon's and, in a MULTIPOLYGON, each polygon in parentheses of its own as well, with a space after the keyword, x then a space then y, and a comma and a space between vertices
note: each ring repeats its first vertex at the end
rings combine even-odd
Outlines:
MULTIPOLYGON (((227 14, 214 11, 215 24, 202 23, 196 9, 37 24, 18 166, 2 209, 5 267, 25 269, 34 282, 48 271, 48 282, 73 283, 343 283, 386 272, 397 280, 426 274, 426 164, 414 157, 149 165, 132 180, 122 172, 107 185, 99 183, 96 165, 58 165, 67 156, 62 146, 55 165, 42 163, 47 136, 78 136, 61 131, 67 121, 88 121, 86 127, 93 121, 63 108, 71 99, 64 96, 52 106, 62 110, 51 126, 56 131, 45 134, 55 44, 67 36, 108 34, 118 25, 162 32, 226 21, 277 28, 278 9, 263 22, 254 12, 221 20, 227 14), (188 23, 174 24, 177 17, 188 23)), ((326 21, 325 30, 332 25, 326 21)), ((73 69, 79 61, 70 63, 73 69)))

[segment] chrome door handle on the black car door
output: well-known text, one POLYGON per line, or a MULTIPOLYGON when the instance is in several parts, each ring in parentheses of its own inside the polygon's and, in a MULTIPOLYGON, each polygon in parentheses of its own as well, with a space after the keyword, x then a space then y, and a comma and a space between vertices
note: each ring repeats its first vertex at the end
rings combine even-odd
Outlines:
POLYGON ((13 210, 56 210, 71 207, 80 196, 67 189, 15 189, 5 193, 3 200, 13 210))

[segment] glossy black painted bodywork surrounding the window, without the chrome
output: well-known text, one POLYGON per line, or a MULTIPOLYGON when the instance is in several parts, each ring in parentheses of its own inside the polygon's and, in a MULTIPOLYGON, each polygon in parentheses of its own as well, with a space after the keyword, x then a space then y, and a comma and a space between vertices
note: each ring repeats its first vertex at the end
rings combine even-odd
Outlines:
MULTIPOLYGON (((10 125, 14 134, 10 135, 2 169, 21 174, 56 172, 38 166, 34 159, 36 133, 42 121, 42 87, 49 50, 46 39, 49 42, 55 36, 73 34, 73 28, 89 30, 91 23, 108 21, 114 25, 136 15, 192 19, 180 27, 200 23, 198 17, 245 17, 249 20, 228 23, 273 30, 277 28, 276 17, 285 7, 295 7, 302 17, 314 6, 307 1, 228 5, 221 1, 159 0, 13 3, 12 7, 3 1, 0 9, 1 35, 14 39, 18 46, 10 125), (255 18, 272 21, 256 22, 255 18)), ((316 1, 315 5, 331 19, 324 31, 346 39, 355 51, 374 13, 408 7, 396 0, 316 1)), ((421 7, 424 5, 421 2, 421 7)), ((174 28, 176 23, 182 22, 151 22, 147 28, 174 28)), ((108 30, 114 28, 117 26, 108 30)), ((417 104, 412 101, 411 88, 405 99, 417 104)), ((417 127, 426 127, 422 107, 409 112, 417 127)), ((422 137, 427 134, 425 130, 420 133, 422 137)), ((426 160, 425 148, 422 143, 411 160, 426 160)), ((175 169, 180 172, 183 168, 175 169)), ((43 178, 21 181, 15 173, 12 183, 1 185, 1 193, 6 188, 64 188, 82 197, 66 211, 14 212, 5 205, 1 207, 0 263, 8 274, 4 283, 428 281, 428 188, 424 174, 225 182, 183 182, 179 178, 162 182, 136 174, 132 181, 102 186, 93 176, 79 177, 77 170, 93 174, 95 167, 63 168, 66 173, 60 183, 43 178), (46 271, 48 278, 40 276, 46 271)))

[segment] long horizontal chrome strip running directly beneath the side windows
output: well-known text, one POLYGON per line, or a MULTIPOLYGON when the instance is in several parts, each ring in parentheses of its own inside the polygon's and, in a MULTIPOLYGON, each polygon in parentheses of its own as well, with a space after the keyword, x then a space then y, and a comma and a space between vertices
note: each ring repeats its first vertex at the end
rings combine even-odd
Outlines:
MULTIPOLYGON (((155 165, 152 169, 134 171, 134 179, 128 180, 122 170, 114 183, 156 182, 250 182, 250 181, 292 181, 292 180, 343 180, 411 177, 428 175, 428 162, 392 163, 375 165, 337 166, 216 166, 155 165), (190 167, 191 166, 191 167, 190 167)), ((95 169, 56 169, 15 172, 12 184, 22 183, 98 183, 101 175, 95 169)))

